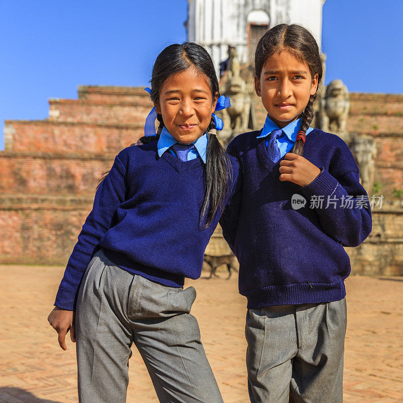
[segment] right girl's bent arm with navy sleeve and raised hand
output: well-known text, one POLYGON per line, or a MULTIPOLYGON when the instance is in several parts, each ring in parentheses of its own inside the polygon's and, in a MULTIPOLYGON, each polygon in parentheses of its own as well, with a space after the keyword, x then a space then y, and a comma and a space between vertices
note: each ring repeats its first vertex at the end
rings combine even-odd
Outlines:
POLYGON ((371 232, 371 209, 367 192, 360 184, 357 163, 346 143, 339 142, 329 167, 319 169, 306 158, 287 153, 280 162, 280 180, 301 186, 308 197, 305 208, 316 210, 329 237, 344 246, 358 246, 371 232))

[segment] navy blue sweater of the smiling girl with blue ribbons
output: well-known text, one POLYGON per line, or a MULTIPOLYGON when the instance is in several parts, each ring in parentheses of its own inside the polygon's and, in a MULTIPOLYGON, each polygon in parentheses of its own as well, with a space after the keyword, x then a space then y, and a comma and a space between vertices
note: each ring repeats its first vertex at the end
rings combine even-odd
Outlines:
MULTIPOLYGON (((230 159, 235 184, 239 165, 230 159)), ((80 281, 99 248, 124 270, 167 286, 182 287, 185 277, 200 277, 220 218, 216 214, 207 229, 201 228, 203 198, 199 158, 181 162, 171 153, 159 157, 157 141, 122 150, 95 194, 54 305, 74 309, 80 281)))

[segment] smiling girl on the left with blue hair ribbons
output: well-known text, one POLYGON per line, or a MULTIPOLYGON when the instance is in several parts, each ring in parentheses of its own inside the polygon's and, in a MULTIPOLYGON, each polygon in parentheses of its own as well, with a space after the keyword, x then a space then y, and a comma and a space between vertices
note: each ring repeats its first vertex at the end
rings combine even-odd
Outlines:
POLYGON ((100 182, 48 321, 63 350, 69 329, 77 340, 80 403, 126 401, 133 343, 159 401, 223 403, 190 314, 195 289, 183 284, 200 277, 237 189, 239 165, 218 142, 213 113, 229 102, 195 43, 165 48, 151 84, 153 140, 122 150, 100 182))

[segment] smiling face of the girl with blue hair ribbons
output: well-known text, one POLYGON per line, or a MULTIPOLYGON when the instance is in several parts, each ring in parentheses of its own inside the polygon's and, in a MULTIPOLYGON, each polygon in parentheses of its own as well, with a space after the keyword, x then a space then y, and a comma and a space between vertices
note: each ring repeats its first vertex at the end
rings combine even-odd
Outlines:
POLYGON ((209 127, 217 99, 218 92, 212 96, 209 78, 190 66, 165 80, 154 105, 171 135, 180 143, 190 144, 209 127))

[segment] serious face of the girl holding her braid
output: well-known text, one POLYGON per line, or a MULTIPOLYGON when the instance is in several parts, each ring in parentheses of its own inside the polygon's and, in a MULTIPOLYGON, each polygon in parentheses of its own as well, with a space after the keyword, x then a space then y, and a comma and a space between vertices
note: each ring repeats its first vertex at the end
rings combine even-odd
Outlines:
POLYGON ((260 77, 255 77, 256 94, 280 128, 298 118, 317 86, 318 74, 312 78, 308 64, 287 51, 267 58, 260 77))

